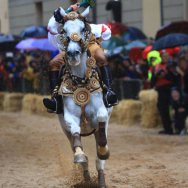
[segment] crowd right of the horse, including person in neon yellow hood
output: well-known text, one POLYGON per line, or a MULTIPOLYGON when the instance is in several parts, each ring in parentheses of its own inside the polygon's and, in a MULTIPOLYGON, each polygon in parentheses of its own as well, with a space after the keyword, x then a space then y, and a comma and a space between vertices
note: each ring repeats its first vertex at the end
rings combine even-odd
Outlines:
POLYGON ((188 49, 151 51, 136 61, 116 55, 110 59, 116 80, 142 80, 143 88, 158 92, 158 110, 164 130, 160 134, 185 134, 188 115, 188 49), (172 110, 170 110, 172 109, 172 110), (174 112, 173 118, 170 111, 174 112), (175 131, 173 125, 175 127, 175 131))

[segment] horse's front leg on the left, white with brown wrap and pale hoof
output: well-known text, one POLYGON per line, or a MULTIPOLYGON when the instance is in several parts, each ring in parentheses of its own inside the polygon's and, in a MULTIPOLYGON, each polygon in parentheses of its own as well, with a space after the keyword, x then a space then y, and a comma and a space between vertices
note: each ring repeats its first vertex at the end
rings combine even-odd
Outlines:
POLYGON ((75 105, 72 100, 67 99, 64 103, 65 129, 71 134, 74 163, 87 163, 87 157, 83 152, 80 137, 81 108, 78 105, 75 105))

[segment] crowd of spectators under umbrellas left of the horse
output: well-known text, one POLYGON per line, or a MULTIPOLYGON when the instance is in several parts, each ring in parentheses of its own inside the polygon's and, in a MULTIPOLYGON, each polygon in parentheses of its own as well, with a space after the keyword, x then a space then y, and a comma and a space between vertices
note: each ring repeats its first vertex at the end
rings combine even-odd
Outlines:
POLYGON ((0 54, 0 91, 45 94, 50 58, 41 51, 0 54))

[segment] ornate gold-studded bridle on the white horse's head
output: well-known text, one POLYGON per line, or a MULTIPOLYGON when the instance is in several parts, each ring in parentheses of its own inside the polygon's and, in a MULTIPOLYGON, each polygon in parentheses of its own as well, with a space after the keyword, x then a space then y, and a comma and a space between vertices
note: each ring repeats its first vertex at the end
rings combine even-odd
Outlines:
POLYGON ((65 15, 63 17, 63 24, 61 24, 58 28, 58 41, 60 44, 63 44, 63 50, 67 51, 67 47, 69 45, 70 41, 78 42, 81 46, 82 52, 85 52, 87 50, 90 38, 92 36, 91 34, 91 27, 86 22, 85 17, 83 17, 81 14, 78 14, 77 12, 70 12, 69 14, 65 15), (84 40, 78 33, 72 33, 71 36, 67 36, 64 29, 63 24, 67 22, 68 20, 75 20, 79 19, 84 22, 85 30, 84 30, 84 40))

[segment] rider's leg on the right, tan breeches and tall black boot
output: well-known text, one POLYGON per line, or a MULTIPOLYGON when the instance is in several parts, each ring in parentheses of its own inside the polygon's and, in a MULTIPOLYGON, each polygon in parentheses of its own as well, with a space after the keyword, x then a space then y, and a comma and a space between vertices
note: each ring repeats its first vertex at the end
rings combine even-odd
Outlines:
POLYGON ((97 61, 97 65, 100 68, 101 72, 102 82, 106 87, 106 91, 104 93, 105 106, 115 106, 118 104, 118 99, 115 92, 112 90, 112 75, 104 51, 96 43, 90 45, 89 50, 91 52, 91 55, 94 56, 97 61))

